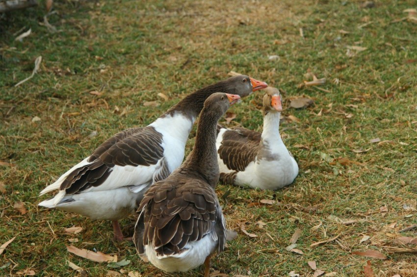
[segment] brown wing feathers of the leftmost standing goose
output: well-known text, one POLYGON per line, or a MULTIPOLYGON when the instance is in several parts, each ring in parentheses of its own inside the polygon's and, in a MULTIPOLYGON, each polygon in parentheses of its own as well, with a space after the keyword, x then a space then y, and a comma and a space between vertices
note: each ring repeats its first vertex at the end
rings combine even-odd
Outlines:
MULTIPOLYGON (((162 134, 151 126, 130 128, 104 141, 89 158, 90 164, 74 169, 62 182, 60 189, 74 194, 104 183, 115 165, 149 166, 163 158, 162 134)), ((157 180, 168 176, 166 162, 156 175, 157 180)), ((138 184, 140 185, 140 184, 138 184)))

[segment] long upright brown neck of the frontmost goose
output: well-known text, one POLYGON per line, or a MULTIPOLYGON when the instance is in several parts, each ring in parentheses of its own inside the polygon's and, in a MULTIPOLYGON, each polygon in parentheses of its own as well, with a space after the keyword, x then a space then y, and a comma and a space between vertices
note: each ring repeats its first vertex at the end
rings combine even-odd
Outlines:
POLYGON ((219 116, 203 111, 198 123, 194 148, 183 163, 183 169, 191 169, 202 175, 215 187, 219 181, 219 166, 216 150, 216 126, 219 116))

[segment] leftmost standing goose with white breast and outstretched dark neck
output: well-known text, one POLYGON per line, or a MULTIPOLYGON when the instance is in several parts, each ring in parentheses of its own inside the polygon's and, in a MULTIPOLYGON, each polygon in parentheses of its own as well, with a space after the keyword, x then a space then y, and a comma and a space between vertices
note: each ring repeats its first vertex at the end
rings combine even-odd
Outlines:
POLYGON ((114 239, 121 241, 118 220, 136 211, 152 183, 165 179, 181 165, 191 127, 207 97, 214 92, 244 97, 266 86, 240 75, 191 93, 148 126, 127 129, 104 141, 42 190, 40 195, 57 193, 39 206, 111 220, 114 239))

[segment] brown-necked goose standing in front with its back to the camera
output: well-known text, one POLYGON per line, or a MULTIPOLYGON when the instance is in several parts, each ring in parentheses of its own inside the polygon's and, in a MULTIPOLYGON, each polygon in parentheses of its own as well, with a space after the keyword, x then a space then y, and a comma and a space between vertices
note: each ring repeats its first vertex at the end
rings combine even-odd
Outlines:
POLYGON ((214 93, 200 114, 194 149, 180 168, 152 185, 140 203, 133 242, 145 261, 167 272, 188 271, 222 252, 226 224, 214 187, 219 180, 216 125, 240 97, 214 93))

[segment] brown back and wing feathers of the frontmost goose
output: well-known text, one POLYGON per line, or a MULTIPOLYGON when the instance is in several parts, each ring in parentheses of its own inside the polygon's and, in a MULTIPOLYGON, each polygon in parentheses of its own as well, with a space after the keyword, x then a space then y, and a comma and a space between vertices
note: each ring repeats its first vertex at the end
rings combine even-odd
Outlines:
MULTIPOLYGON (((139 254, 148 243, 153 243, 158 255, 178 254, 189 241, 199 240, 211 231, 225 237, 224 228, 215 226, 222 213, 214 190, 201 180, 179 182, 175 177, 171 175, 152 185, 138 208, 141 213, 134 242, 139 254)), ((223 250, 224 242, 221 245, 223 250)))

